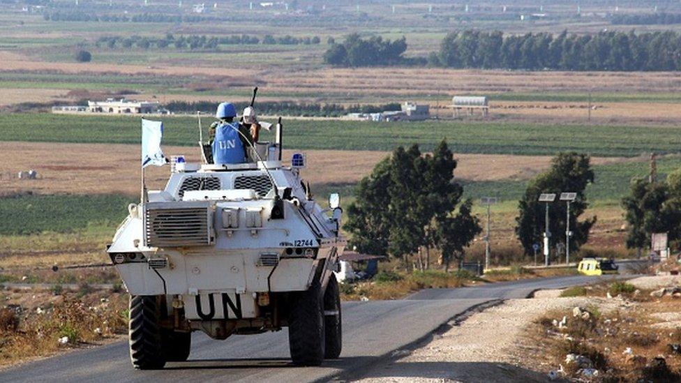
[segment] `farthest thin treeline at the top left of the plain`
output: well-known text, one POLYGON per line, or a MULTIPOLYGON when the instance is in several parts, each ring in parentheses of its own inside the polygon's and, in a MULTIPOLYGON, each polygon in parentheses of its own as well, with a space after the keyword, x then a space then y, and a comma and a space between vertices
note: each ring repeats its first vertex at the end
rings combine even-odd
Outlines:
POLYGON ((139 15, 94 15, 85 12, 43 13, 45 20, 59 22, 202 22, 213 17, 195 15, 165 15, 163 13, 140 13, 139 15))

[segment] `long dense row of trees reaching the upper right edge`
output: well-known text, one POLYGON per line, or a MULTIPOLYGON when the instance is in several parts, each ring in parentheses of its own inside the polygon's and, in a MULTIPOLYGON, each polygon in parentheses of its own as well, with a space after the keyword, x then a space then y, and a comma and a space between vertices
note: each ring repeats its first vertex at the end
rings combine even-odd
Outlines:
POLYGON ((680 70, 681 35, 601 32, 593 35, 500 31, 449 33, 440 52, 428 57, 434 66, 558 70, 680 70))

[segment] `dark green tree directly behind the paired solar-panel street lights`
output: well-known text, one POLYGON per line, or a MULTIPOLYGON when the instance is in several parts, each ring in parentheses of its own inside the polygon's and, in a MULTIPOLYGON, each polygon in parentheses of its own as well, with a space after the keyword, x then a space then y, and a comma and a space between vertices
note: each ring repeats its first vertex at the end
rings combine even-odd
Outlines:
MULTIPOLYGON (((559 153, 551 160, 551 169, 537 175, 528 183, 523 199, 518 202, 518 217, 516 217, 516 235, 525 249, 526 255, 534 253, 532 245, 541 241, 544 227, 544 203, 538 202, 541 193, 561 192, 577 193, 576 200, 570 204, 570 248, 578 248, 586 243, 589 230, 596 223, 596 217, 579 221, 579 216, 588 207, 584 190, 594 181, 594 172, 591 170, 590 157, 578 153, 559 153)), ((548 231, 553 234, 564 233, 566 230, 566 204, 554 203, 550 208, 550 227, 548 231)), ((554 235, 553 243, 565 243, 565 237, 554 235)))

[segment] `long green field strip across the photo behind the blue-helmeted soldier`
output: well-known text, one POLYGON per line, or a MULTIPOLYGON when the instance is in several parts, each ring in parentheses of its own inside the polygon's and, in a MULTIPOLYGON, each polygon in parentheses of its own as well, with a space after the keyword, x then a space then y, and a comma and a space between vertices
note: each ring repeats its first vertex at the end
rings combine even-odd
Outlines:
MULTIPOLYGON (((195 118, 161 119, 165 123, 164 144, 190 146, 196 142, 195 118)), ((204 119, 204 128, 210 121, 204 119)), ((592 156, 638 156, 650 151, 677 153, 681 147, 679 130, 664 127, 296 119, 285 119, 284 124, 285 147, 294 149, 390 151, 398 145, 417 143, 428 151, 442 138, 456 153, 551 156, 559 151, 578 151, 592 156)), ((138 144, 140 117, 3 114, 0 140, 138 144)))

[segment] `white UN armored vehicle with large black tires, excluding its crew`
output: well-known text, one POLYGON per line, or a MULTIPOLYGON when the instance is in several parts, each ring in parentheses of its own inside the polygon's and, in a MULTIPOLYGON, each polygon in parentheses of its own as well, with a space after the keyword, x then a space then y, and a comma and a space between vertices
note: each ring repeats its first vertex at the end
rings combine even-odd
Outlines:
POLYGON ((235 165, 174 163, 107 248, 130 293, 130 359, 138 369, 188 359, 191 333, 214 339, 288 327, 294 363, 341 350, 334 271, 345 240, 338 195, 322 209, 301 179, 304 156, 274 143, 235 165))

